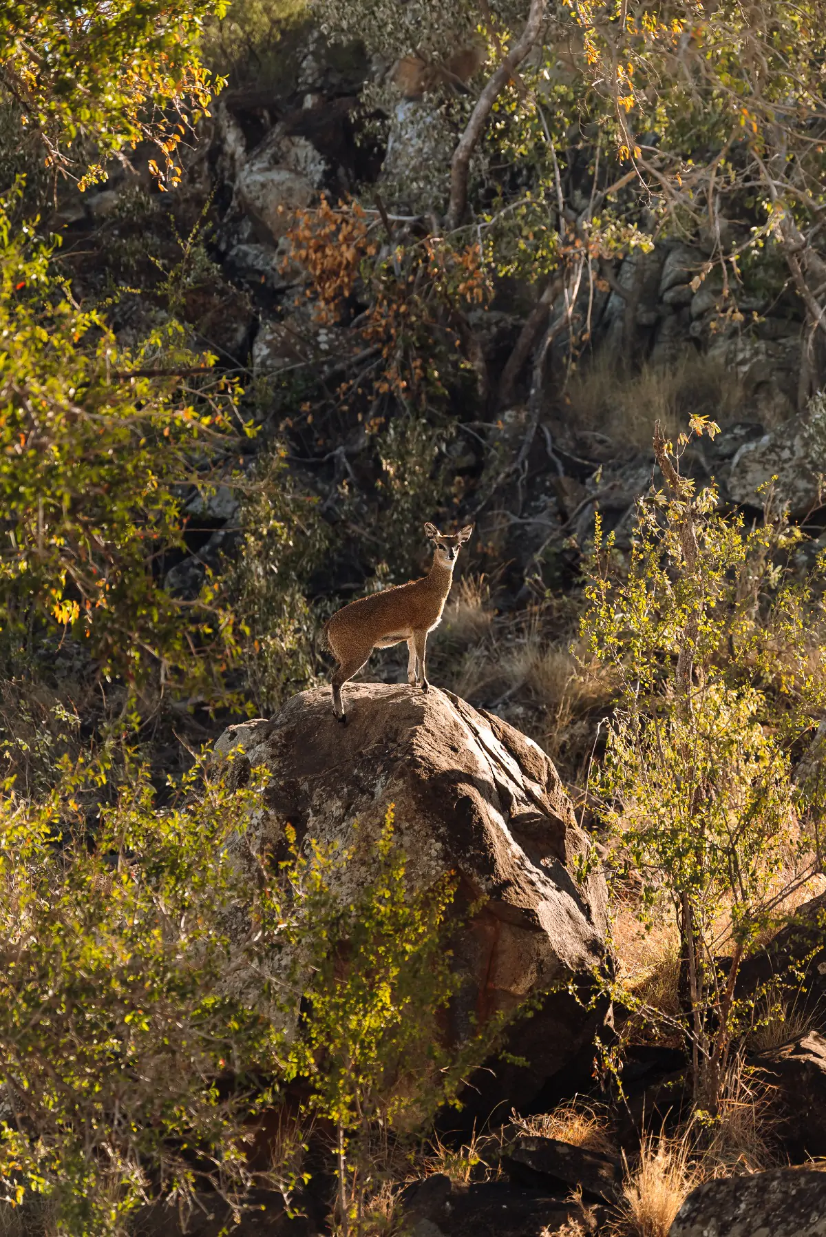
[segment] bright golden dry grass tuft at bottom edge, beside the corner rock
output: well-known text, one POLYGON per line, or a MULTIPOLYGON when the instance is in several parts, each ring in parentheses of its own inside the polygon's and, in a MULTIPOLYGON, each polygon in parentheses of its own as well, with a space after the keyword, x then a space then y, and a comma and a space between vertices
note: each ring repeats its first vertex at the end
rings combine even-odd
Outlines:
POLYGON ((627 1170, 612 1231, 616 1237, 668 1237, 674 1217, 701 1180, 686 1138, 643 1138, 627 1170))

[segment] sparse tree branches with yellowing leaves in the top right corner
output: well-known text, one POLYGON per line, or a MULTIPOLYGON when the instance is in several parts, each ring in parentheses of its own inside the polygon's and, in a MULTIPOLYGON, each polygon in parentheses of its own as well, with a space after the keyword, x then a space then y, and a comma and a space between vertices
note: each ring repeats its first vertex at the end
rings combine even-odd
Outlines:
MULTIPOLYGON (((699 234, 737 314, 739 263, 770 240, 805 306, 805 400, 824 377, 826 6, 573 0, 581 64, 663 224, 699 234), (816 362, 814 340, 820 335, 816 362)), ((741 319, 742 320, 742 319, 741 319)))

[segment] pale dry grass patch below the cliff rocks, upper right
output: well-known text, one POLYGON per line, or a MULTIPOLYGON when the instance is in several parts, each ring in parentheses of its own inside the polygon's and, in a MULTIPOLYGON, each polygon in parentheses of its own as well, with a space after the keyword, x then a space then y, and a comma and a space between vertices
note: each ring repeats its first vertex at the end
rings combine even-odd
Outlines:
POLYGON ((721 362, 689 351, 664 369, 645 365, 637 374, 617 372, 607 357, 575 374, 568 385, 566 414, 576 426, 607 434, 617 443, 649 450, 655 421, 674 437, 690 416, 706 413, 725 426, 744 418, 742 381, 721 362))

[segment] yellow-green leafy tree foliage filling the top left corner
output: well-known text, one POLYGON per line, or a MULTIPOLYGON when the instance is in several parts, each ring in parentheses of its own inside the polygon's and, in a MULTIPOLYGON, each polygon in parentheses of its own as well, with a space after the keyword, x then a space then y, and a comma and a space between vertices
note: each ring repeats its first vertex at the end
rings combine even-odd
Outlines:
MULTIPOLYGON (((179 143, 194 134, 215 85, 198 58, 204 16, 225 0, 2 0, 0 96, 20 109, 56 173, 80 188, 105 179, 105 162, 155 145, 164 186, 181 178, 179 143)), ((5 187, 7 188, 7 187, 5 187)))

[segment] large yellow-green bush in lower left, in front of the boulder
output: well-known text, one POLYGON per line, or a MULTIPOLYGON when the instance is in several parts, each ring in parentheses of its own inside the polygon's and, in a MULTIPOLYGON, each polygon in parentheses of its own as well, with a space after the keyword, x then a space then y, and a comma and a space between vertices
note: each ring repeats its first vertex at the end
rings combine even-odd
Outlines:
POLYGON ((299 1077, 293 1134, 255 1180, 289 1199, 323 1117, 346 1223, 381 1186, 377 1128, 415 1127, 490 1049, 495 1029, 440 1047, 451 889, 408 888, 392 816, 370 856, 299 855, 288 831, 278 863, 256 826, 266 774, 231 792, 226 772, 199 764, 160 809, 132 771, 95 819, 101 767, 0 800, 0 1183, 6 1205, 45 1199, 58 1233, 120 1232, 156 1199, 185 1213, 199 1188, 242 1209, 257 1118, 299 1077))

